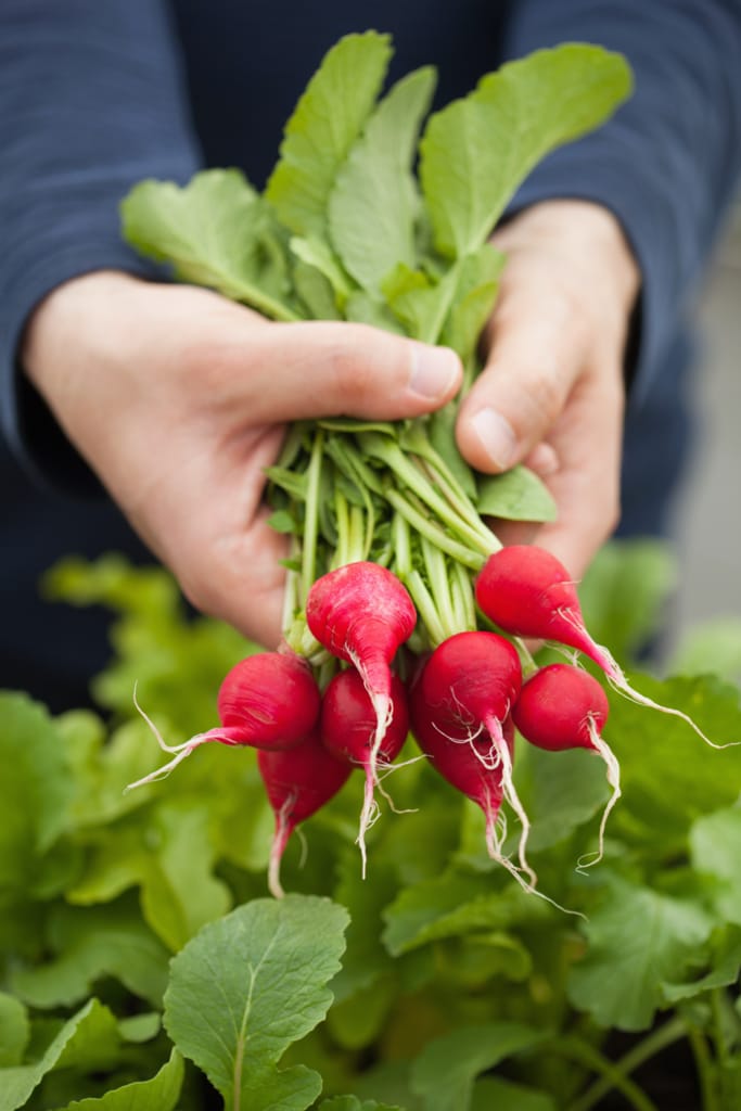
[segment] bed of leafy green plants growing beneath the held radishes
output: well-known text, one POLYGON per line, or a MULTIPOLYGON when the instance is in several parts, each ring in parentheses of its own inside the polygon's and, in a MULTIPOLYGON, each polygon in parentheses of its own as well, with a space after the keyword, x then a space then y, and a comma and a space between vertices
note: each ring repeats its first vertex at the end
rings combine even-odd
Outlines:
MULTIPOLYGON (((584 598, 611 605, 589 609, 592 623, 609 634, 617 614, 625 643, 639 640, 671 587, 643 575, 659 558, 605 550, 584 598), (653 583, 640 607, 635 577, 653 583)), ((204 645, 224 659, 244 645, 189 619, 160 570, 71 560, 48 589, 118 611, 96 683, 112 717, 52 719, 0 695, 2 1111, 663 1111, 672 1045, 688 1108, 738 1107, 741 748, 698 751, 683 722, 611 695, 623 798, 587 873, 574 865, 595 843, 599 761, 518 752, 540 888, 578 914, 497 869, 480 813, 421 761, 388 782, 397 809, 414 809, 370 831, 366 881, 356 784, 307 823, 306 862, 293 845, 293 893, 277 902, 251 750, 199 750, 166 783, 123 793, 156 758, 134 678, 162 728, 186 729, 163 660, 188 669, 208 718, 220 667, 199 678, 204 645)), ((720 741, 741 737, 735 687, 640 681, 720 741)))

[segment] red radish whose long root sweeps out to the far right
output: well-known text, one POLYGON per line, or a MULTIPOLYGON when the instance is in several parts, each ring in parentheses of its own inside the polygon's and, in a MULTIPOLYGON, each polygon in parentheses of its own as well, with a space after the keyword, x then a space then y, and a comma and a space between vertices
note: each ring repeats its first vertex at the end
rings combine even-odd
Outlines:
POLYGON ((489 557, 475 581, 475 600, 483 613, 513 637, 533 637, 568 644, 588 655, 617 690, 641 705, 681 718, 713 749, 715 744, 692 719, 634 690, 609 650, 587 631, 577 588, 560 560, 537 544, 511 544, 489 557))

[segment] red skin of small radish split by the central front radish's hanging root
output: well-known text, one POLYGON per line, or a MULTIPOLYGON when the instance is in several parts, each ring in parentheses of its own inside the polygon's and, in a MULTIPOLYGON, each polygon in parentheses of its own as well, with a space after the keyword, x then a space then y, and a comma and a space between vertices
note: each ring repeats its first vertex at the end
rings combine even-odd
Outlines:
MULTIPOLYGON (((385 764, 399 755, 409 732, 407 691, 398 675, 391 677, 391 708, 393 715, 378 753, 379 762, 385 764)), ((367 768, 374 732, 375 711, 362 679, 353 668, 340 671, 322 699, 322 744, 339 760, 367 768)))

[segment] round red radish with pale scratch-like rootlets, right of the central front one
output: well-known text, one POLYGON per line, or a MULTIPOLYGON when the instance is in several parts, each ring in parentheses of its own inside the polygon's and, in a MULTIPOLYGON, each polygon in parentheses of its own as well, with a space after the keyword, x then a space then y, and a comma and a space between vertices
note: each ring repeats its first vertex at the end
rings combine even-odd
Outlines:
POLYGON ((460 632, 432 652, 421 689, 435 728, 498 773, 503 797, 522 824, 520 865, 534 884, 524 853, 530 822, 512 781, 512 753, 502 729, 521 682, 520 658, 508 640, 493 632, 460 632))

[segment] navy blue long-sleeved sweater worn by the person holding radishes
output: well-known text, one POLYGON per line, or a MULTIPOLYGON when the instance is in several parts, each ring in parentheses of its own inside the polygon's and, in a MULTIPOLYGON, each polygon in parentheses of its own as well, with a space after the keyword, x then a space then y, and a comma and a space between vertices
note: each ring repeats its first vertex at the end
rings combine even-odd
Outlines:
POLYGON ((4 0, 0 630, 9 632, 3 642, 0 631, 0 685, 54 701, 49 677, 72 691, 102 658, 98 615, 36 601, 36 578, 59 554, 143 556, 113 507, 80 500, 94 482, 16 364, 24 321, 73 276, 103 267, 148 273, 118 224, 118 203, 141 178, 184 182, 202 166, 239 166, 261 187, 322 54, 340 34, 369 27, 393 34, 392 79, 437 64, 439 102, 507 58, 567 40, 630 60, 630 102, 599 132, 550 156, 515 204, 598 201, 619 217, 638 256, 625 529, 662 527, 687 439, 684 322, 741 168, 741 0, 4 0))

